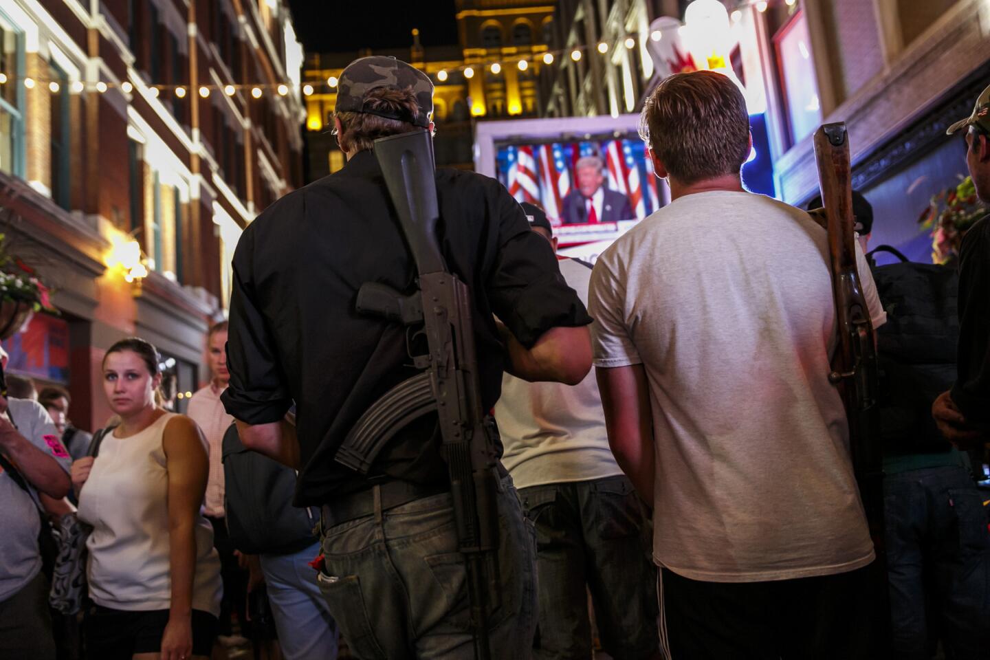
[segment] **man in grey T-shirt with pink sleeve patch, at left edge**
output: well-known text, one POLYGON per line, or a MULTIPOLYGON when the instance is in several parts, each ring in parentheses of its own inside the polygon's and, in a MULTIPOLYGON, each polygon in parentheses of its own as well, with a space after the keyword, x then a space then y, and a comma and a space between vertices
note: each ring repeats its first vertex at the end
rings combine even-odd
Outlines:
MULTIPOLYGON (((7 354, 0 347, 4 366, 7 354)), ((53 660, 40 494, 69 489, 71 458, 40 404, 0 397, 0 658, 53 660)))

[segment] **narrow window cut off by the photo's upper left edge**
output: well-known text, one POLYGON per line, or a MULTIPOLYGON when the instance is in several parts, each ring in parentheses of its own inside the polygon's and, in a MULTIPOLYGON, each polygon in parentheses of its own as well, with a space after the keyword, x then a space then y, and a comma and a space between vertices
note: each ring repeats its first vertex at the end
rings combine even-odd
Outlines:
POLYGON ((0 172, 24 177, 24 35, 0 11, 0 172))

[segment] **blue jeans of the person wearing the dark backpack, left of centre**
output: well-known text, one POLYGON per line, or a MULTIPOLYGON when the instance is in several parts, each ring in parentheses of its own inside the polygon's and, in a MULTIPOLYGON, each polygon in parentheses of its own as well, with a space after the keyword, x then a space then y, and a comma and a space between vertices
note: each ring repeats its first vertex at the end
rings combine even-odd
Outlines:
POLYGON ((335 660, 337 623, 316 583, 309 562, 320 554, 320 542, 293 554, 262 554, 261 572, 285 660, 335 660))

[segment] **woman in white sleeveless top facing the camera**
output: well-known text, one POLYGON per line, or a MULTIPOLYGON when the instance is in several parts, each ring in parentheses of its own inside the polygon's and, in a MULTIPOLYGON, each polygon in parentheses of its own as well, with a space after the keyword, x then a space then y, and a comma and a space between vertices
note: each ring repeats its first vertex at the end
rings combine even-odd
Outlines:
POLYGON ((208 448, 192 420, 154 404, 158 355, 144 339, 103 358, 103 389, 120 418, 99 455, 72 464, 79 519, 92 525, 86 576, 93 658, 208 658, 222 585, 201 507, 208 448), (147 655, 146 655, 147 654, 147 655))

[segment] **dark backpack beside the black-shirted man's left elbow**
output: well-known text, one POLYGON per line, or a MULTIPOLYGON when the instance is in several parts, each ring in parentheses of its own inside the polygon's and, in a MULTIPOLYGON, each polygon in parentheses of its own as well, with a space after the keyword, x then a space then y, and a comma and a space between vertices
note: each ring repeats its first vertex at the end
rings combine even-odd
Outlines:
POLYGON ((296 472, 241 443, 237 424, 224 434, 227 530, 247 554, 289 554, 316 542, 311 509, 292 506, 296 472))

